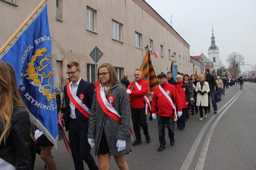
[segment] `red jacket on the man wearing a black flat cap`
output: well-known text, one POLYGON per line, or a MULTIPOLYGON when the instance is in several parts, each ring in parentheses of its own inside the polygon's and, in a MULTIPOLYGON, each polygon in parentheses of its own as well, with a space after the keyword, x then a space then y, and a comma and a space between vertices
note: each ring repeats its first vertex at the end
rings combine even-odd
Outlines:
MULTIPOLYGON (((170 96, 172 99, 173 104, 176 105, 178 111, 182 112, 182 102, 179 96, 179 93, 177 92, 176 88, 169 84, 165 83, 163 85, 160 85, 163 90, 169 91, 167 94, 170 96)), ((169 106, 167 101, 160 95, 160 89, 159 86, 155 88, 154 90, 154 95, 152 98, 152 103, 151 103, 151 112, 156 113, 156 109, 158 108, 157 115, 158 116, 166 116, 170 117, 173 115, 173 109, 169 106)))

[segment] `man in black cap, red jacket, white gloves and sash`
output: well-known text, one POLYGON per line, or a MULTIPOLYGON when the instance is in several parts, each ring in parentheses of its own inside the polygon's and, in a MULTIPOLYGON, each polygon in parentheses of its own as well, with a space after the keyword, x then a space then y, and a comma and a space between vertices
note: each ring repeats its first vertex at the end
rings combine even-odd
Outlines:
POLYGON ((177 120, 177 116, 182 115, 182 102, 177 92, 176 88, 166 83, 167 76, 166 74, 157 75, 159 86, 154 90, 154 96, 152 98, 152 117, 156 118, 157 111, 157 122, 158 122, 158 134, 159 134, 159 142, 160 147, 158 151, 162 151, 165 149, 166 141, 165 141, 165 125, 167 125, 168 136, 170 138, 170 144, 174 145, 174 126, 175 121, 177 120), (177 111, 176 108, 177 107, 177 111), (176 115, 177 114, 177 115, 176 115))

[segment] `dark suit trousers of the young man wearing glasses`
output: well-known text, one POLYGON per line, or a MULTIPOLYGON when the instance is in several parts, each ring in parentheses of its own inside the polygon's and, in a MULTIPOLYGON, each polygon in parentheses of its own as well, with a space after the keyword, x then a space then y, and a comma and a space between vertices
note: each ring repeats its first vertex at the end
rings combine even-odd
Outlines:
POLYGON ((75 169, 83 170, 84 160, 89 169, 98 170, 99 168, 90 153, 91 147, 87 140, 88 129, 81 129, 76 119, 69 118, 68 132, 75 169))

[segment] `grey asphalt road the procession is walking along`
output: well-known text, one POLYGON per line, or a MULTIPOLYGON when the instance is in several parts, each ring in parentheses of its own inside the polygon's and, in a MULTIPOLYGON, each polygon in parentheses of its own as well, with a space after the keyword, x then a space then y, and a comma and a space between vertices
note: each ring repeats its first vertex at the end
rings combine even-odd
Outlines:
MULTIPOLYGON (((167 145, 162 152, 157 151, 160 146, 157 120, 147 120, 151 142, 146 143, 141 129, 142 144, 132 146, 132 152, 126 155, 129 169, 256 169, 256 83, 245 82, 243 86, 243 90, 236 85, 225 89, 225 96, 217 103, 217 115, 212 109, 203 121, 199 121, 199 113, 190 116, 183 131, 175 127, 174 146, 170 145, 166 129, 167 145)), ((63 140, 52 153, 57 169, 74 169, 63 140)), ((94 156, 94 149, 91 153, 94 156)), ((97 156, 95 161, 98 164, 97 156)), ((84 168, 88 169, 85 163, 84 168)), ((44 169, 39 155, 34 169, 44 169)), ((118 169, 113 156, 110 169, 118 169)))

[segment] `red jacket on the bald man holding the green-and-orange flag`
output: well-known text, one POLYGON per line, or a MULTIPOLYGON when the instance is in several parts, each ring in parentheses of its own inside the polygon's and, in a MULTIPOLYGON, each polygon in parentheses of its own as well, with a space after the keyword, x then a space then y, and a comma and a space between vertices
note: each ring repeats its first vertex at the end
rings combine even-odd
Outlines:
MULTIPOLYGON (((134 82, 131 82, 127 89, 131 90, 133 83, 134 82)), ((134 87, 131 91, 131 108, 145 108, 143 96, 147 96, 149 85, 148 82, 146 82, 142 78, 137 81, 137 83, 141 87, 141 90, 136 90, 134 87)), ((134 86, 136 85, 134 84, 134 86)))

